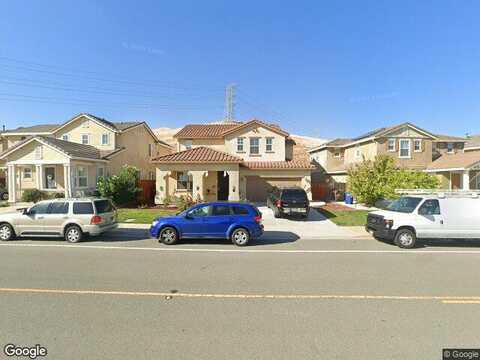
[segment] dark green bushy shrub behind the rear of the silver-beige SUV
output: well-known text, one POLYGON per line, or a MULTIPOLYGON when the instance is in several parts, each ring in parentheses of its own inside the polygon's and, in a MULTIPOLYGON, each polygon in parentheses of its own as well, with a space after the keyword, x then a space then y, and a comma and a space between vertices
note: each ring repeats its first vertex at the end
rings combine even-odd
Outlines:
POLYGON ((139 181, 138 169, 125 165, 118 175, 99 178, 97 190, 100 196, 112 199, 116 205, 131 205, 142 191, 138 187, 139 181))

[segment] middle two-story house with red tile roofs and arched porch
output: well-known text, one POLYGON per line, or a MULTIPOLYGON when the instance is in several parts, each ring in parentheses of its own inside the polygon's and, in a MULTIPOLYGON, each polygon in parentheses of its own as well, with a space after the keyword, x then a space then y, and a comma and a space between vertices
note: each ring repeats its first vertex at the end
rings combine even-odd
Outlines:
POLYGON ((311 194, 308 160, 293 159, 294 141, 276 125, 187 125, 176 135, 177 152, 153 160, 156 203, 169 196, 194 200, 263 202, 274 186, 299 186, 311 194))

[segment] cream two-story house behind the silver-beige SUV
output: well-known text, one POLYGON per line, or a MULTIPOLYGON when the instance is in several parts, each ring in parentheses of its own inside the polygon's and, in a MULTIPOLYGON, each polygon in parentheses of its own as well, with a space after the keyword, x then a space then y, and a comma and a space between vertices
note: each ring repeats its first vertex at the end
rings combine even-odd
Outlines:
POLYGON ((1 137, 10 202, 32 188, 67 197, 90 194, 99 177, 115 175, 124 165, 136 166, 142 180, 154 180, 151 158, 173 150, 145 122, 110 122, 84 113, 60 125, 7 130, 1 137))

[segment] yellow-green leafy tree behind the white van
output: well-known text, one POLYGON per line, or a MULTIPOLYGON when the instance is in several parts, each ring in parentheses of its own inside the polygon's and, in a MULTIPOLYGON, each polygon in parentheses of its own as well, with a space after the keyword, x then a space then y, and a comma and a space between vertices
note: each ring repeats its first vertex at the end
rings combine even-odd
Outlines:
POLYGON ((361 203, 373 206, 381 199, 395 199, 396 189, 435 189, 438 179, 430 174, 398 169, 388 155, 364 160, 348 171, 348 189, 361 203))

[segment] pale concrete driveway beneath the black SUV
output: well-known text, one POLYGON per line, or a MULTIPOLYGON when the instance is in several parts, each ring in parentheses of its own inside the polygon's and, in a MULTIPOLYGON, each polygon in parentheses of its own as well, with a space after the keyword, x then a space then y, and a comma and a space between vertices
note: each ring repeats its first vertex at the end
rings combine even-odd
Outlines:
POLYGON ((348 228, 335 225, 315 209, 310 211, 307 219, 296 217, 276 219, 270 208, 260 206, 258 209, 263 214, 265 235, 268 235, 269 231, 293 233, 300 238, 315 239, 322 237, 352 237, 358 235, 358 233, 348 228))

